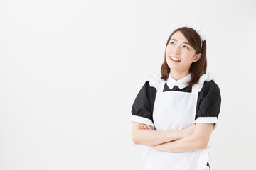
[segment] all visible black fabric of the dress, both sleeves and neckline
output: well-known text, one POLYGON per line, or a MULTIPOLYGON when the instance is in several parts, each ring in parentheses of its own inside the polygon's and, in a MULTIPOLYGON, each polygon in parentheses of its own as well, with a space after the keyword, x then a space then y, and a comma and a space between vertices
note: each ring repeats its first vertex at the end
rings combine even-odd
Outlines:
MULTIPOLYGON (((174 86, 173 89, 169 89, 167 84, 164 86, 164 91, 183 91, 189 92, 191 88, 179 89, 178 86, 174 86)), ((156 98, 156 88, 149 85, 149 81, 146 81, 140 89, 137 97, 132 105, 132 115, 141 116, 150 119, 153 123, 153 109, 154 101, 156 98)), ((205 81, 203 88, 198 93, 198 101, 196 104, 196 117, 217 117, 220 113, 220 89, 213 80, 205 81)))

